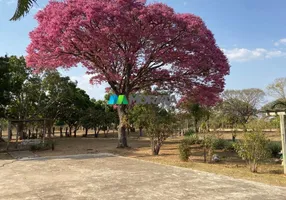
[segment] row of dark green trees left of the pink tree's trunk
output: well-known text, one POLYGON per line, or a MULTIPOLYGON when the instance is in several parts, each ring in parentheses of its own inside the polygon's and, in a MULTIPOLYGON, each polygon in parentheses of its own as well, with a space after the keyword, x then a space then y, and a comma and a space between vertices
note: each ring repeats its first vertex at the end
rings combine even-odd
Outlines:
MULTIPOLYGON (((66 136, 77 136, 82 126, 85 135, 89 129, 97 137, 118 123, 116 111, 107 101, 90 99, 69 77, 57 71, 35 74, 26 67, 25 59, 16 56, 0 57, 0 118, 46 118, 48 135, 54 125, 67 125, 66 136)), ((17 125, 20 138, 24 138, 24 123, 17 125)), ((64 130, 61 127, 61 136, 64 130)))

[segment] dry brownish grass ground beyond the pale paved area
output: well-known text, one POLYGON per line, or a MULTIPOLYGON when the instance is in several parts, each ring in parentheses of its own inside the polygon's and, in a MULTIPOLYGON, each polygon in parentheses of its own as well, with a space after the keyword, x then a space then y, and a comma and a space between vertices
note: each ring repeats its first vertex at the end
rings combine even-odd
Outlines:
MULTIPOLYGON (((117 149, 116 133, 109 133, 108 138, 104 138, 103 134, 99 138, 89 135, 88 138, 81 137, 82 133, 78 133, 77 138, 56 138, 55 150, 37 151, 39 156, 55 156, 55 155, 73 155, 86 153, 109 152, 137 158, 141 160, 186 167, 195 170, 201 170, 221 175, 227 175, 234 178, 247 179, 277 186, 286 186, 286 176, 283 174, 283 166, 275 164, 273 159, 261 164, 258 173, 251 173, 245 164, 235 152, 231 151, 215 151, 222 158, 219 163, 203 163, 203 151, 201 148, 194 148, 189 162, 182 162, 179 159, 178 145, 183 137, 169 138, 166 140, 158 156, 152 156, 150 151, 150 142, 148 138, 137 138, 137 134, 129 136, 128 143, 131 148, 117 149)), ((238 139, 242 134, 238 134, 238 139)), ((279 133, 267 133, 273 141, 279 141, 279 133)), ((222 134, 221 137, 230 139, 231 134, 222 134)), ((7 155, 6 155, 7 157, 7 155)), ((5 159, 5 155, 0 154, 0 159, 5 159)))

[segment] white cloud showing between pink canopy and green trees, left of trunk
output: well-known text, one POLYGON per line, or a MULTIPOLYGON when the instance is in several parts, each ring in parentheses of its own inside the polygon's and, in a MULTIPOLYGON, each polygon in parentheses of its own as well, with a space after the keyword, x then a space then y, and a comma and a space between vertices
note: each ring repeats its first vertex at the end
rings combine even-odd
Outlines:
POLYGON ((77 81, 77 86, 86 91, 90 98, 95 98, 96 100, 103 100, 105 95, 105 88, 108 87, 107 84, 102 85, 91 85, 89 80, 92 75, 80 75, 71 76, 70 79, 77 81))

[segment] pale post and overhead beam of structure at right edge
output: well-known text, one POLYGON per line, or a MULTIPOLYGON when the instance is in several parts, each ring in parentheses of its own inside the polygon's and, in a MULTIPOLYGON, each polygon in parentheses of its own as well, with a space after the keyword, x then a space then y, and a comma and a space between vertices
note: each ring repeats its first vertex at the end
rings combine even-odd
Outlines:
POLYGON ((281 142, 282 142, 282 154, 283 154, 283 167, 284 174, 286 174, 286 109, 285 110, 266 110, 263 111, 267 116, 279 116, 280 118, 280 132, 281 132, 281 142))

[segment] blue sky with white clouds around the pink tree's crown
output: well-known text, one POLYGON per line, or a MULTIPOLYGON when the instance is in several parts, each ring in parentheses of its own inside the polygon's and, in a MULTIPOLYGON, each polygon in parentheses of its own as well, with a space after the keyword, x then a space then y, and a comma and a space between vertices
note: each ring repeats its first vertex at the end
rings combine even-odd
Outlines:
MULTIPOLYGON (((148 3, 153 1, 148 1, 148 3)), ((160 2, 160 1, 157 1, 160 2)), ((230 60, 226 89, 261 88, 286 77, 285 0, 161 0, 180 13, 200 16, 230 60)), ((38 0, 31 13, 11 22, 16 0, 0 0, 0 56, 26 55, 34 14, 48 3, 38 0)), ((103 98, 105 86, 91 86, 83 68, 61 71, 91 97, 103 98)))

